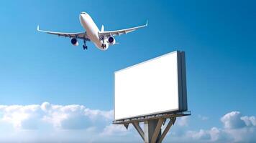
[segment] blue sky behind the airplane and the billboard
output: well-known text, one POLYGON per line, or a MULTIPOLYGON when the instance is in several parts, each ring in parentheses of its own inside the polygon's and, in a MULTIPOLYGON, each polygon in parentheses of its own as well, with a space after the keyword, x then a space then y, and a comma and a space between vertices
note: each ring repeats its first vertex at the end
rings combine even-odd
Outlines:
MULTIPOLYGON (((177 124, 173 132, 180 132, 180 136, 185 134, 186 137, 199 134, 189 137, 208 142, 201 139, 201 134, 209 135, 213 127, 220 132, 234 131, 233 127, 237 127, 234 124, 239 123, 245 124, 239 126, 241 129, 252 129, 252 135, 256 134, 253 124, 256 115, 255 1, 1 1, 0 16, 0 104, 5 106, 0 108, 0 124, 5 127, 0 128, 0 132, 7 129, 10 132, 6 134, 10 135, 18 129, 17 132, 26 132, 24 134, 29 141, 29 134, 46 134, 53 129, 61 138, 60 134, 64 134, 63 120, 56 122, 52 114, 46 116, 43 112, 38 116, 28 116, 31 121, 52 117, 44 121, 53 124, 49 129, 42 129, 41 122, 36 122, 39 127, 34 129, 34 124, 29 131, 20 125, 24 119, 18 123, 15 120, 15 123, 13 119, 5 118, 7 115, 13 117, 6 107, 35 104, 37 107, 32 111, 46 111, 42 103, 49 102, 50 107, 78 104, 90 109, 88 111, 99 111, 96 112, 97 117, 101 119, 103 116, 106 121, 101 121, 97 127, 95 138, 104 129, 113 128, 122 134, 104 137, 118 142, 122 137, 129 139, 135 136, 140 141, 134 130, 127 133, 110 125, 113 73, 170 51, 182 50, 186 51, 188 109, 192 116, 180 119, 180 128, 177 124), (145 24, 146 20, 149 26, 117 36, 120 44, 109 47, 107 51, 100 51, 91 43, 88 43, 88 50, 83 51, 81 45, 72 46, 68 38, 36 31, 37 24, 45 30, 83 31, 78 19, 81 11, 90 14, 97 26, 104 24, 105 30, 138 26, 145 24), (232 117, 238 123, 232 122, 232 117), (12 126, 6 125, 6 121, 12 126), (225 126, 227 122, 234 126, 225 126)), ((23 107, 14 109, 16 112, 24 111, 23 107)), ((91 117, 89 113, 88 118, 91 117)), ((75 113, 65 114, 71 116, 75 113)), ((79 112, 75 117, 71 119, 75 127, 91 119, 81 117, 79 112)), ((86 122, 81 127, 90 132, 88 127, 94 125, 86 122)), ((72 127, 64 131, 65 134, 73 134, 70 142, 76 139, 78 132, 84 133, 83 129, 72 127)), ((234 138, 226 135, 228 139, 234 138)), ((210 140, 214 141, 213 138, 211 134, 210 140)), ((0 142, 3 139, 4 136, 0 135, 0 142)), ((175 139, 175 135, 170 134, 167 139, 175 139)), ((88 141, 87 138, 85 140, 88 141)), ((229 141, 239 142, 239 139, 229 141)))

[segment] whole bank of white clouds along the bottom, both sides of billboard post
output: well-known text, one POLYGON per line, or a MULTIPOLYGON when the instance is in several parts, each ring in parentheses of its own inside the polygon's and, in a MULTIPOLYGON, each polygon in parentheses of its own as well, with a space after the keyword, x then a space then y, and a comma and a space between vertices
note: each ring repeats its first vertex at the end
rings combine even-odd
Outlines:
MULTIPOLYGON (((0 105, 0 142, 142 142, 132 125, 111 124, 113 116, 78 104, 0 105)), ((191 117, 178 118, 165 142, 256 142, 255 116, 229 112, 209 129, 193 127, 191 117)))

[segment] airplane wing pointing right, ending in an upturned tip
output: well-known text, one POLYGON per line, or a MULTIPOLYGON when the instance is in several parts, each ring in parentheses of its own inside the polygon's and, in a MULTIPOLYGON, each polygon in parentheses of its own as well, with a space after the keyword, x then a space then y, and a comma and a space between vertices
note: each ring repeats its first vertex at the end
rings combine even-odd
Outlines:
POLYGON ((136 26, 129 29, 122 29, 122 30, 115 30, 115 31, 99 31, 99 36, 116 36, 121 34, 127 34, 129 32, 135 31, 145 26, 147 26, 147 23, 145 25, 136 26))

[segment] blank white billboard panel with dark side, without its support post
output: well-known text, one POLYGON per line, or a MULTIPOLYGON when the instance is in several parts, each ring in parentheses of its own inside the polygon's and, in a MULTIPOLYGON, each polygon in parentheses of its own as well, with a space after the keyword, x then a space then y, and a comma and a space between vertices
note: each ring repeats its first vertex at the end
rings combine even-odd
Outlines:
POLYGON ((114 72, 114 119, 187 111, 184 51, 114 72))

